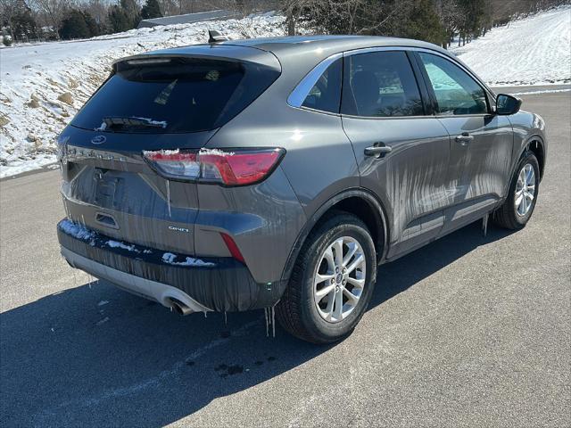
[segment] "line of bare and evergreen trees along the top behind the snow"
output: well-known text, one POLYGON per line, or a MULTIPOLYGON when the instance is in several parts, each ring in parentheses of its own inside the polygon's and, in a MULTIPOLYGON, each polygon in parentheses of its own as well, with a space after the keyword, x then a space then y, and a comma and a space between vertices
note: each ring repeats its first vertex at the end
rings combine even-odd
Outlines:
POLYGON ((0 0, 4 45, 87 38, 137 28, 144 19, 228 9, 279 11, 288 34, 383 35, 460 45, 509 22, 571 0, 0 0))

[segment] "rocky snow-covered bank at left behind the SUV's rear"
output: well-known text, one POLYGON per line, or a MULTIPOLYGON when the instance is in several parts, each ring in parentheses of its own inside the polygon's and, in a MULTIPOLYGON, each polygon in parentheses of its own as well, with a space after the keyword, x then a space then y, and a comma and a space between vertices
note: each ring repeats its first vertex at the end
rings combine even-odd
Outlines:
POLYGON ((108 76, 113 61, 206 43, 208 29, 233 38, 283 36, 283 21, 264 14, 0 49, 0 177, 55 161, 55 137, 108 76))

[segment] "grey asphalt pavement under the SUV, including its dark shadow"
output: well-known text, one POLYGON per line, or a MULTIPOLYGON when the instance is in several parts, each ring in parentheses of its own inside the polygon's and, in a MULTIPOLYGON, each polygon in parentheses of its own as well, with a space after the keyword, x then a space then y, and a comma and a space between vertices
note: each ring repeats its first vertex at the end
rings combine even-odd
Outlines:
POLYGON ((465 229, 379 270, 358 329, 315 347, 262 311, 178 317, 66 266, 58 174, 0 183, 4 426, 569 426, 571 96, 534 218, 465 229))

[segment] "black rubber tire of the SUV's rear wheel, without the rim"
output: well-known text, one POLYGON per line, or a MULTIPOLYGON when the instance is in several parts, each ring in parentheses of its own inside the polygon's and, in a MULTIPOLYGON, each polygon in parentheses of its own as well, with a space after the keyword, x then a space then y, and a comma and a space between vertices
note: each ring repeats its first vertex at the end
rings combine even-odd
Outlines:
MULTIPOLYGON (((292 276, 276 307, 280 325, 295 337, 313 343, 336 342, 350 333, 365 313, 377 279, 377 254, 367 226, 357 217, 335 211, 307 237, 295 262, 292 276), (341 321, 327 322, 319 316, 314 300, 314 275, 327 246, 342 236, 355 239, 365 257, 365 285, 360 300, 341 321)), ((344 284, 344 283, 343 283, 344 284)))

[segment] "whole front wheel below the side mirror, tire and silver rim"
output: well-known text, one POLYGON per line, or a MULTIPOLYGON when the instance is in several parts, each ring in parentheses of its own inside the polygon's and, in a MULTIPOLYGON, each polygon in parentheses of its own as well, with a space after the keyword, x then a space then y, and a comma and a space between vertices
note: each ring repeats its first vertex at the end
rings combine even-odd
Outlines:
POLYGON ((511 177, 506 201, 493 213, 493 222, 511 230, 524 227, 534 212, 539 194, 539 180, 537 158, 533 152, 525 152, 511 177))

